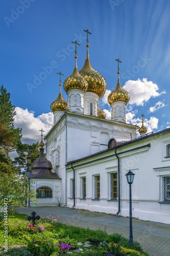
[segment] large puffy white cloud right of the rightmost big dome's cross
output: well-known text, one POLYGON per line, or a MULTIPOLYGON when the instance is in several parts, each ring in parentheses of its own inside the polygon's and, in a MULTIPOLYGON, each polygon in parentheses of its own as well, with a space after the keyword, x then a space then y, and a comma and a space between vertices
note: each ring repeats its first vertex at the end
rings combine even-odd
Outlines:
POLYGON ((148 81, 147 78, 140 80, 139 78, 134 80, 129 80, 125 83, 123 87, 129 92, 131 98, 129 103, 143 106, 145 102, 149 101, 151 97, 155 98, 160 96, 165 91, 158 93, 159 90, 156 83, 148 81))

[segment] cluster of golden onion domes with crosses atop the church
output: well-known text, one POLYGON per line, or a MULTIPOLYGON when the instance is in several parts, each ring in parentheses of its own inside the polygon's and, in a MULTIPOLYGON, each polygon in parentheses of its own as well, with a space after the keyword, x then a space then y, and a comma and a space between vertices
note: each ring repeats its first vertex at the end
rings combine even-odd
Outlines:
MULTIPOLYGON (((87 32, 88 35, 88 30, 85 31, 87 32)), ((77 41, 74 42, 77 47, 77 41)), ((99 98, 101 98, 107 89, 107 83, 105 78, 97 71, 95 71, 90 64, 89 60, 89 53, 88 53, 88 36, 87 36, 87 54, 86 54, 86 60, 84 63, 83 68, 78 71, 77 69, 77 51, 75 55, 76 63, 75 63, 75 69, 72 72, 70 76, 68 76, 65 81, 64 81, 64 90, 68 92, 70 89, 80 89, 82 91, 86 92, 93 92, 96 93, 99 98)), ((77 48, 76 48, 77 49, 77 48)), ((119 59, 117 60, 119 63, 119 59)), ((121 62, 121 61, 120 61, 121 62)), ((111 105, 113 102, 116 101, 124 101, 126 103, 129 102, 130 95, 129 93, 122 88, 119 82, 119 66, 118 66, 118 81, 116 88, 111 92, 108 96, 108 102, 111 105)), ((61 77, 60 77, 61 78, 61 77)), ((51 104, 51 110, 53 112, 57 110, 65 111, 67 110, 67 102, 63 99, 62 94, 61 94, 61 81, 60 81, 60 93, 58 98, 53 101, 51 104)), ((105 113, 99 108, 99 117, 105 118, 105 113)))

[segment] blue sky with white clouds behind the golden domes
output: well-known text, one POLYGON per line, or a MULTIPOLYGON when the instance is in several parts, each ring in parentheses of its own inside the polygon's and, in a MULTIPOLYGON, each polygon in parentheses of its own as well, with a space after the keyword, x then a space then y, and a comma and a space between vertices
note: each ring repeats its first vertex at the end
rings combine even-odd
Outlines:
MULTIPOLYGON (((145 115, 148 131, 166 129, 170 123, 170 2, 168 0, 2 0, 1 1, 1 84, 16 106, 16 127, 22 127, 23 141, 39 138, 41 127, 53 124, 50 105, 75 64, 86 57, 86 33, 92 67, 107 82, 100 107, 109 118, 107 96, 117 83, 130 93, 127 120, 141 124, 145 115), (47 68, 48 67, 48 68, 47 68), (50 67, 50 68, 49 68, 50 67), (42 73, 43 72, 43 73, 42 73)), ((62 88, 65 100, 67 95, 62 88)))

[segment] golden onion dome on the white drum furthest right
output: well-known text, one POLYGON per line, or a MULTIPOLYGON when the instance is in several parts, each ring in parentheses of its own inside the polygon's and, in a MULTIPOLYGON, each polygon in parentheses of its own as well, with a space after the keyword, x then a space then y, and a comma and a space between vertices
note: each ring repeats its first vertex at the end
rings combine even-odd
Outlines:
POLYGON ((108 96, 108 102, 111 105, 113 102, 116 101, 124 101, 126 103, 129 102, 130 100, 130 95, 129 93, 124 90, 122 88, 122 86, 120 85, 120 81, 119 81, 119 71, 117 72, 118 74, 118 80, 117 80, 117 85, 116 88, 113 90, 113 92, 111 92, 108 96))

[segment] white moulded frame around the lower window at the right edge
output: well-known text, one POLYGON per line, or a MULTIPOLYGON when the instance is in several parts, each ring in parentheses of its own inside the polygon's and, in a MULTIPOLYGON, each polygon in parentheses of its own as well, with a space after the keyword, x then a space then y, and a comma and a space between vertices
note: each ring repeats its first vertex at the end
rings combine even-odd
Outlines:
POLYGON ((159 203, 170 204, 170 200, 164 200, 164 178, 170 177, 170 166, 154 168, 159 177, 159 203))

